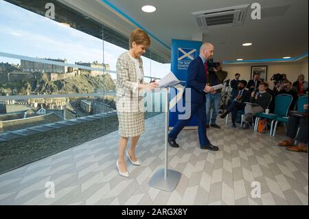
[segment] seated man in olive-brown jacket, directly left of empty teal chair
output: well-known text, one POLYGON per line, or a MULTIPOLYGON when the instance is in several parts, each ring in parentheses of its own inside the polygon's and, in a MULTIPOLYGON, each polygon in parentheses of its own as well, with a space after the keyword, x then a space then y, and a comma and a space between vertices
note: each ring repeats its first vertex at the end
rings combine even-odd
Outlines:
POLYGON ((258 91, 251 93, 251 101, 244 106, 244 125, 242 129, 249 129, 249 122, 256 113, 262 113, 271 102, 271 94, 266 91, 268 84, 261 82, 258 91))

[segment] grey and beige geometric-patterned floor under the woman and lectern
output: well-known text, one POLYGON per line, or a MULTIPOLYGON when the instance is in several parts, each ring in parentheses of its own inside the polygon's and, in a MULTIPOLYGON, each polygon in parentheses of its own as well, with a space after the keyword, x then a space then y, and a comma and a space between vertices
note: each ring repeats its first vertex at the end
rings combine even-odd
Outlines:
POLYGON ((218 152, 198 148, 196 130, 183 130, 181 148, 169 147, 170 168, 182 173, 174 192, 148 186, 163 168, 164 115, 146 121, 137 148, 139 167, 128 163, 130 178, 117 174, 117 132, 0 175, 0 205, 308 205, 308 154, 288 152, 277 137, 211 128, 218 152), (45 183, 55 183, 55 198, 45 183), (253 198, 251 183, 261 185, 253 198))

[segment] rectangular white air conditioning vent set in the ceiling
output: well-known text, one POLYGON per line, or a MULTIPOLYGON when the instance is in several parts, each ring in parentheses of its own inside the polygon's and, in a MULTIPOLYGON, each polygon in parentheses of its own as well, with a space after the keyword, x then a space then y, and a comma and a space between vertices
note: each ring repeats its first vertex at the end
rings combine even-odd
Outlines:
POLYGON ((238 5, 229 8, 218 8, 202 12, 192 12, 198 27, 218 28, 239 26, 244 23, 249 5, 238 5))

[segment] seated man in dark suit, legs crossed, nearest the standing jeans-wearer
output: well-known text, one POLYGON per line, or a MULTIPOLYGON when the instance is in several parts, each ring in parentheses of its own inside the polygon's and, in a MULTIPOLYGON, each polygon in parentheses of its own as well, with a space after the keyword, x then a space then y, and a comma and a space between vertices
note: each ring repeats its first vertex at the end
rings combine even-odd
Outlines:
POLYGON ((232 122, 231 127, 236 128, 235 119, 236 119, 236 113, 239 110, 244 110, 244 106, 246 104, 244 102, 250 101, 250 93, 249 90, 246 89, 247 81, 241 80, 238 83, 238 92, 233 93, 231 96, 231 104, 227 106, 227 111, 220 115, 220 118, 224 118, 231 112, 232 122))

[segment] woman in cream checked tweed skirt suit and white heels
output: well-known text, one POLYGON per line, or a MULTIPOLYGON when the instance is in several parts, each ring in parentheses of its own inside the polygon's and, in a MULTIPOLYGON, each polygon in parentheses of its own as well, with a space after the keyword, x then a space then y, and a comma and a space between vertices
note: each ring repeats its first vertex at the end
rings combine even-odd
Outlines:
POLYGON ((144 109, 141 90, 153 90, 156 82, 144 82, 143 61, 141 55, 150 46, 146 32, 137 29, 130 34, 130 50, 120 55, 117 60, 116 107, 119 121, 119 158, 116 161, 121 176, 128 177, 124 152, 131 137, 130 149, 126 156, 134 165, 141 165, 135 157, 135 148, 139 136, 144 132, 144 109))

